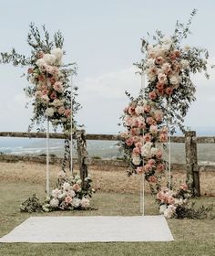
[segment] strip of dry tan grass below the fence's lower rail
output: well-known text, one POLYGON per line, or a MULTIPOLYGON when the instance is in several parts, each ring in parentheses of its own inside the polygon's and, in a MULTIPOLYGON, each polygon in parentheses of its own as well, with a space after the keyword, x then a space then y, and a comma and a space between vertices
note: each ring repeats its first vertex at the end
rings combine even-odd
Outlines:
MULTIPOLYGON (((55 187, 56 174, 60 170, 59 165, 50 165, 51 187, 55 187)), ((77 170, 75 170, 77 171, 77 170)), ((141 176, 127 176, 126 169, 120 167, 89 166, 89 173, 93 179, 93 187, 104 192, 138 193, 142 186, 141 176)), ((78 173, 78 171, 77 171, 78 173)), ((184 171, 172 171, 173 182, 184 182, 184 171)), ((0 180, 5 182, 25 181, 29 183, 46 184, 46 165, 36 163, 4 163, 0 162, 0 180)), ((166 181, 164 180, 164 184, 166 181)), ((215 196, 215 172, 200 173, 201 194, 215 196)), ((149 191, 147 182, 145 190, 149 191)))

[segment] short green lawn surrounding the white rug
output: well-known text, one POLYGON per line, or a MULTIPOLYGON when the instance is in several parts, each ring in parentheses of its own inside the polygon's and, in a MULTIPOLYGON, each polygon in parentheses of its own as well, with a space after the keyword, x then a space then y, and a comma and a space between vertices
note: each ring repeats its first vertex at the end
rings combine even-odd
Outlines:
MULTIPOLYGON (((89 215, 139 215, 139 195, 97 192, 92 207, 97 210, 21 213, 19 205, 36 193, 43 198, 44 187, 38 184, 0 182, 0 237, 15 228, 29 216, 89 216, 89 215)), ((200 197, 197 204, 215 203, 214 197, 200 197)), ((146 214, 158 214, 154 199, 146 197, 146 214)), ((215 219, 169 219, 169 228, 175 241, 171 242, 111 242, 111 243, 10 243, 0 244, 1 256, 28 255, 215 255, 215 219)), ((87 230, 86 230, 87 231, 87 230)))

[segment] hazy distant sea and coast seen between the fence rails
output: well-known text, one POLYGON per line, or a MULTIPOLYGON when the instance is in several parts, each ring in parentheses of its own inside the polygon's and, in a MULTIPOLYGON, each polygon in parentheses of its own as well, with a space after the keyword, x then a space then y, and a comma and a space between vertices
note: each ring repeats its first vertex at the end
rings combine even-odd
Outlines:
MULTIPOLYGON (((113 141, 87 141, 89 157, 104 159, 122 158, 118 151, 118 142, 113 141)), ((56 156, 64 154, 64 141, 50 139, 49 152, 56 156)), ((46 139, 29 138, 0 138, 0 154, 8 155, 41 155, 46 154, 46 139)), ((74 149, 74 155, 76 150, 74 149)), ((184 144, 171 144, 172 163, 185 163, 184 144)), ((215 144, 198 144, 198 159, 200 162, 215 162, 215 144)))

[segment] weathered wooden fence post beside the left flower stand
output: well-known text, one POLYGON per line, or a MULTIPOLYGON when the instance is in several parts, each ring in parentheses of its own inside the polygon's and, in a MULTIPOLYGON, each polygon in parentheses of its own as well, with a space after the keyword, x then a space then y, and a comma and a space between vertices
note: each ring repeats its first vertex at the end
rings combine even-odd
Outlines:
POLYGON ((87 140, 85 130, 79 130, 76 133, 77 138, 77 156, 80 170, 80 178, 82 180, 82 187, 86 186, 85 178, 88 176, 87 170, 87 140))

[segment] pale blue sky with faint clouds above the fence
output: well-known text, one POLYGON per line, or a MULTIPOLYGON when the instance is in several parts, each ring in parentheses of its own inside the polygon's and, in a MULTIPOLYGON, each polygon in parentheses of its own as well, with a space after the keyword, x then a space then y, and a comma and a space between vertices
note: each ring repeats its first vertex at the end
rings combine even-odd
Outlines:
MULTIPOLYGON (((30 22, 46 25, 50 32, 60 29, 65 37, 66 61, 76 61, 78 101, 83 109, 79 123, 87 133, 118 133, 118 118, 128 100, 124 91, 137 95, 140 79, 133 62, 141 59, 140 38, 156 29, 170 35, 176 20, 186 22, 193 8, 198 9, 186 41, 191 46, 208 48, 215 60, 213 33, 215 2, 208 1, 138 1, 138 0, 26 0, 0 1, 0 51, 12 47, 29 54, 26 35, 30 22), (207 5, 206 5, 207 3, 207 5)), ((215 61, 214 61, 215 62, 215 61)), ((197 75, 197 101, 192 104, 186 124, 199 133, 214 130, 215 70, 211 80, 197 75)), ((32 110, 25 109, 21 69, 0 67, 0 130, 26 131, 32 110)))

